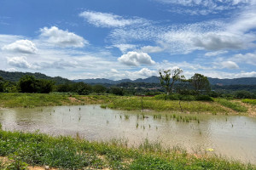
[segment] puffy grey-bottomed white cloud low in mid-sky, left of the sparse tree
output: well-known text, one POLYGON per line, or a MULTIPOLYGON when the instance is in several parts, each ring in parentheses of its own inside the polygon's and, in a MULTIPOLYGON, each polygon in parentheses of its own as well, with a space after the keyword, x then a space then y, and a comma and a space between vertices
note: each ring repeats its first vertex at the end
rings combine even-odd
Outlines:
POLYGON ((151 59, 151 57, 142 52, 135 52, 131 51, 127 54, 123 54, 121 57, 119 57, 119 62, 125 64, 125 65, 131 65, 131 66, 139 66, 139 65, 154 65, 154 60, 151 59))

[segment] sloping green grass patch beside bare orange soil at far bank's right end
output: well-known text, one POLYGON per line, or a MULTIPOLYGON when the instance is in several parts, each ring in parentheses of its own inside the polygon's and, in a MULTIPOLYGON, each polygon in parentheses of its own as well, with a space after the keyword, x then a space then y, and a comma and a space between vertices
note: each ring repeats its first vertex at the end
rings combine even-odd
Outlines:
POLYGON ((247 112, 247 108, 238 102, 232 102, 228 99, 215 99, 220 105, 230 108, 237 112, 247 112))

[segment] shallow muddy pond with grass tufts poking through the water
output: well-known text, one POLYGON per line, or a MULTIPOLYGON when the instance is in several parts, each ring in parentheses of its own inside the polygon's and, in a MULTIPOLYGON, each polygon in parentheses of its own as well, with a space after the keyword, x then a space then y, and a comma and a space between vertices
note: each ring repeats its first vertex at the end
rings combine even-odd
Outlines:
POLYGON ((113 111, 100 105, 38 107, 0 110, 4 130, 71 135, 88 140, 145 139, 189 152, 211 152, 256 163, 256 118, 173 114, 154 111, 113 111), (182 117, 180 117, 182 116, 182 117))

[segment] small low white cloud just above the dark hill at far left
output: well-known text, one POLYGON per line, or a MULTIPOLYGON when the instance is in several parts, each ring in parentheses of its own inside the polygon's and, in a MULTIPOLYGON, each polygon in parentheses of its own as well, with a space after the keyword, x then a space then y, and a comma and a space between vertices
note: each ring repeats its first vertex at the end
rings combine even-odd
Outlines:
POLYGON ((26 57, 8 58, 7 63, 21 69, 38 69, 38 65, 31 65, 26 61, 26 57))

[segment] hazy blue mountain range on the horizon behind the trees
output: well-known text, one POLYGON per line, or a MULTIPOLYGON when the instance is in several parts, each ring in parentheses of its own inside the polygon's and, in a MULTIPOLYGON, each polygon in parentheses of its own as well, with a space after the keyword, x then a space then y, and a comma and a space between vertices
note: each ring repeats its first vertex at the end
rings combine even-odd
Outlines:
MULTIPOLYGON (((256 85, 256 77, 245 77, 245 78, 234 78, 234 79, 218 79, 218 78, 208 78, 210 84, 224 86, 224 85, 256 85)), ((93 84, 119 84, 120 82, 147 82, 147 83, 160 83, 159 77, 148 77, 145 79, 139 78, 137 80, 122 79, 119 81, 113 81, 105 78, 96 79, 79 79, 73 80, 74 82, 85 82, 93 84)))

